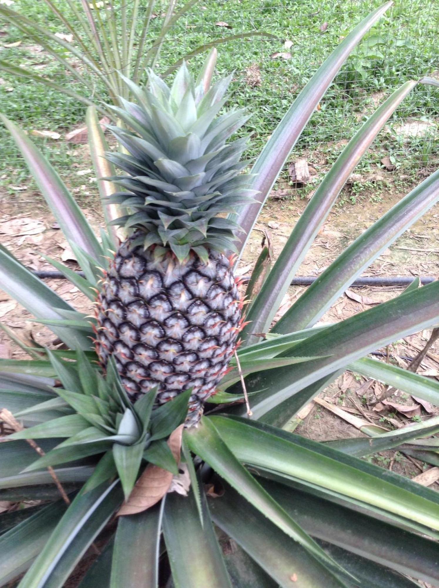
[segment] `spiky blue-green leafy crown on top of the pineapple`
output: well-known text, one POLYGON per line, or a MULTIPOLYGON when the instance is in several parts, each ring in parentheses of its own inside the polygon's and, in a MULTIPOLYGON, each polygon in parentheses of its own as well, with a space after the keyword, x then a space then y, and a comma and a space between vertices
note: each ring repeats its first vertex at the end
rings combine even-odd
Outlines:
POLYGON ((144 88, 125 79, 137 103, 120 98, 112 107, 129 127, 110 126, 127 151, 106 154, 127 174, 108 178, 124 189, 109 199, 126 212, 113 223, 134 233, 133 245, 170 248, 180 262, 191 250, 204 261, 209 249, 235 250, 239 227, 225 213, 256 193, 241 173, 248 138, 228 141, 249 117, 219 115, 232 76, 210 85, 209 59, 196 80, 183 63, 171 87, 153 71, 144 88))

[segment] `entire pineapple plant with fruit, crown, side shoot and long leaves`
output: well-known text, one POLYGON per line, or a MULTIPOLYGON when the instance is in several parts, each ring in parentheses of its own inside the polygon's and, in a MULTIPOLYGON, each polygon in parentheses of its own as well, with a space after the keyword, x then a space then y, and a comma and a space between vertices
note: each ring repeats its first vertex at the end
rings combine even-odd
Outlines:
POLYGON ((29 348, 0 323, 32 358, 0 359, 0 500, 18 505, 0 514, 0 586, 438 584, 438 493, 363 457, 399 448, 437 465, 437 441, 426 445, 426 437, 437 435, 439 418, 384 433, 367 426, 362 430, 370 438, 329 443, 296 435, 289 423, 346 369, 439 405, 437 382, 367 357, 438 324, 439 282, 420 288, 414 280, 385 303, 335 325, 316 324, 363 269, 439 201, 439 171, 354 240, 271 324, 347 177, 418 82, 404 82, 364 122, 272 268, 262 250, 245 293, 244 319, 251 324, 242 329, 228 257, 232 243, 238 255, 244 247, 343 61, 390 4, 367 16, 327 58, 251 175, 240 173, 245 139, 227 141, 242 113, 212 118, 224 100, 215 102, 213 94, 227 85, 210 88, 214 53, 197 82, 183 67, 169 91, 154 75, 145 90, 131 84, 136 103, 123 102, 116 114, 125 126, 113 128, 124 153, 104 159, 106 143, 90 107, 90 151, 106 217, 101 240, 31 139, 3 118, 85 278, 50 261, 88 296, 96 316, 78 312, 0 246, 2 288, 63 342, 29 348), (203 101, 212 104, 204 119, 203 101), (212 131, 208 140, 203 124, 212 131), (114 163, 127 175, 116 175, 114 163), (252 202, 239 200, 233 213, 241 198, 252 202), (121 243, 120 228, 129 230, 121 243), (78 565, 85 566, 79 580, 78 565))

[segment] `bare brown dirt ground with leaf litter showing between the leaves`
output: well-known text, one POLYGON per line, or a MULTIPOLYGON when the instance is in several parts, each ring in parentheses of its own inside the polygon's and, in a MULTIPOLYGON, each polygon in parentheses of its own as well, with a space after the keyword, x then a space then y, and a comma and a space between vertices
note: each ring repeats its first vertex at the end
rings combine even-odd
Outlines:
MULTIPOLYGON (((97 229, 102 223, 96 196, 93 188, 85 182, 81 189, 82 201, 90 199, 85 208, 85 214, 97 229), (84 192, 89 192, 85 194, 84 192)), ((315 243, 299 269, 298 275, 318 275, 331 263, 346 246, 360 233, 367 229, 384 212, 394 205, 404 195, 394 186, 380 192, 380 198, 374 198, 373 192, 364 191, 355 203, 350 203, 350 188, 345 188, 345 204, 336 206, 330 213, 315 243), (378 201, 377 201, 378 200, 378 201)), ((252 265, 261 250, 262 233, 268 232, 272 240, 274 257, 286 242, 289 233, 300 213, 307 203, 306 198, 300 198, 300 191, 291 190, 290 196, 283 199, 270 199, 261 213, 248 247, 241 262, 239 272, 242 275, 251 273, 252 265)), ((423 218, 404 233, 391 247, 386 250, 364 272, 368 276, 439 276, 439 240, 437 225, 439 207, 435 206, 423 218)), ((73 269, 77 269, 75 257, 70 250, 58 224, 46 209, 41 199, 33 198, 32 193, 26 193, 11 199, 10 195, 0 200, 0 242, 7 246, 26 266, 35 270, 50 270, 52 266, 40 255, 62 260, 73 269), (23 201, 34 202, 31 206, 23 201)), ((46 279, 45 283, 59 295, 82 312, 89 312, 90 302, 66 280, 46 279)), ((300 296, 305 288, 293 286, 283 301, 280 312, 285 312, 291 303, 300 296)), ((323 316, 325 322, 336 322, 352 316, 372 305, 384 302, 399 295, 403 288, 351 288, 335 305, 323 316)), ((0 292, 0 320, 9 328, 28 341, 36 340, 44 345, 53 341, 53 335, 42 325, 31 320, 32 317, 8 295, 0 292)), ((430 336, 430 331, 416 333, 402 341, 396 342, 390 348, 377 350, 381 357, 403 368, 407 368, 410 359, 414 358, 423 348, 430 336)), ((13 345, 10 340, 0 334, 0 356, 3 358, 25 358, 21 349, 13 345)), ((430 349, 429 354, 421 363, 418 373, 439 379, 439 343, 430 349)), ((413 420, 425 420, 431 414, 439 412, 435 407, 421 406, 419 402, 394 393, 389 399, 390 405, 376 405, 385 387, 378 382, 366 382, 366 379, 346 373, 337 382, 329 386, 320 398, 329 402, 321 406, 313 402, 301 413, 300 425, 293 423, 292 428, 301 435, 315 440, 340 439, 360 436, 362 433, 345 418, 331 412, 331 407, 342 409, 346 415, 354 415, 366 422, 374 423, 385 428, 402 426, 413 420), (404 410, 394 405, 403 405, 404 410), (407 410, 407 406, 413 406, 407 410), (380 410, 377 410, 380 408, 380 410)), ((345 416, 346 416, 345 415, 345 416)), ((426 467, 423 463, 416 463, 408 459, 393 460, 386 455, 376 455, 374 463, 385 467, 390 464, 397 472, 409 477, 417 475, 426 467)), ((439 486, 434 483, 434 486, 439 486)))

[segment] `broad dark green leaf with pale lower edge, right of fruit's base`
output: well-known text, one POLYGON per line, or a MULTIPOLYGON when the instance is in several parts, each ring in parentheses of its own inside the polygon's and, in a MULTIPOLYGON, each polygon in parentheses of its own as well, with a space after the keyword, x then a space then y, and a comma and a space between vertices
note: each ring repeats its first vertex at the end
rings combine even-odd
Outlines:
POLYGON ((250 376, 248 390, 263 390, 252 399, 255 418, 374 349, 435 325, 439 319, 439 282, 401 294, 389 302, 323 329, 299 342, 285 355, 306 356, 327 352, 332 356, 277 368, 250 376), (330 345, 329 345, 330 342, 330 345))

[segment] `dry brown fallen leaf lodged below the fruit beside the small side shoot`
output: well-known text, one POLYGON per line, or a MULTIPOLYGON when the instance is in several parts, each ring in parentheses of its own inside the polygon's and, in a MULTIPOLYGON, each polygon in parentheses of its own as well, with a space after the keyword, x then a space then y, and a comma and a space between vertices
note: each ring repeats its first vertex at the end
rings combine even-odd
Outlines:
MULTIPOLYGON (((168 439, 168 446, 178 464, 180 463, 183 426, 177 427, 168 439)), ((137 480, 133 492, 131 492, 127 502, 121 506, 117 516, 136 515, 156 505, 168 492, 173 477, 173 473, 150 463, 139 480, 137 480)))

